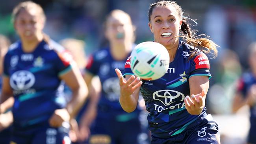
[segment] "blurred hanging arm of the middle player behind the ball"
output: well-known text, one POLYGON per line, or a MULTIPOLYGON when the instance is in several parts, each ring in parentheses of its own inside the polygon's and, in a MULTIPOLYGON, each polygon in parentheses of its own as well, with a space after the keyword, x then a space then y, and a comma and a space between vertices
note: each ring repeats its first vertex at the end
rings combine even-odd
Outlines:
POLYGON ((83 78, 88 85, 90 100, 80 120, 79 127, 81 140, 87 139, 90 135, 89 127, 95 120, 97 114, 97 105, 100 99, 101 92, 101 83, 98 76, 93 76, 92 74, 87 72, 83 78))

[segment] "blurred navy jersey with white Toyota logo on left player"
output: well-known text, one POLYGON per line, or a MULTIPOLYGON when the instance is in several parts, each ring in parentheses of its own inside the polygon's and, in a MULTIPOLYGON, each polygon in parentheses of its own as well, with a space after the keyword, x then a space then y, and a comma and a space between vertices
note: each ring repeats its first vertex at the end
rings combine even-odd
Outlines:
POLYGON ((10 78, 15 103, 15 127, 48 123, 54 110, 65 107, 59 76, 71 69, 71 55, 54 41, 42 41, 33 52, 24 52, 20 41, 9 48, 4 76, 10 78))

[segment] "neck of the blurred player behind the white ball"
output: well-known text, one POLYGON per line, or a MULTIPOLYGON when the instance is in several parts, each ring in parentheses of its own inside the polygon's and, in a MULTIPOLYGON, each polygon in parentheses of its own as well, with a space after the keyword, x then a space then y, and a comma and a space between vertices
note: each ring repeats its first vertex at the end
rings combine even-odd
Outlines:
POLYGON ((132 51, 132 43, 111 44, 110 52, 115 60, 123 60, 132 51))

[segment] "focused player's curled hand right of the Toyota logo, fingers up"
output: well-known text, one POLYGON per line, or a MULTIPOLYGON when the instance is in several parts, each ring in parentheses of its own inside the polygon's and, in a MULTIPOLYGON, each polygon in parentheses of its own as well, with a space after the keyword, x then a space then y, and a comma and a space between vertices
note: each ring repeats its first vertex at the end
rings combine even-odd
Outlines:
POLYGON ((187 112, 192 115, 199 115, 202 113, 202 110, 205 105, 205 98, 206 93, 204 90, 200 94, 192 94, 191 97, 186 96, 184 98, 185 107, 187 109, 187 112))

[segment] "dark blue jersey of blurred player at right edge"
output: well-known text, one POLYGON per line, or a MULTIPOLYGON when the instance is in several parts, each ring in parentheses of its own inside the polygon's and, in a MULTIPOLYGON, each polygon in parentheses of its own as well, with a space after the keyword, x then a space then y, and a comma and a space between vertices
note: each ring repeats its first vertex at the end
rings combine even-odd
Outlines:
MULTIPOLYGON (((252 85, 256 85, 256 77, 252 73, 245 73, 238 81, 237 91, 241 92, 243 98, 248 96, 252 85)), ((256 129, 256 103, 250 107, 250 124, 256 129)))

